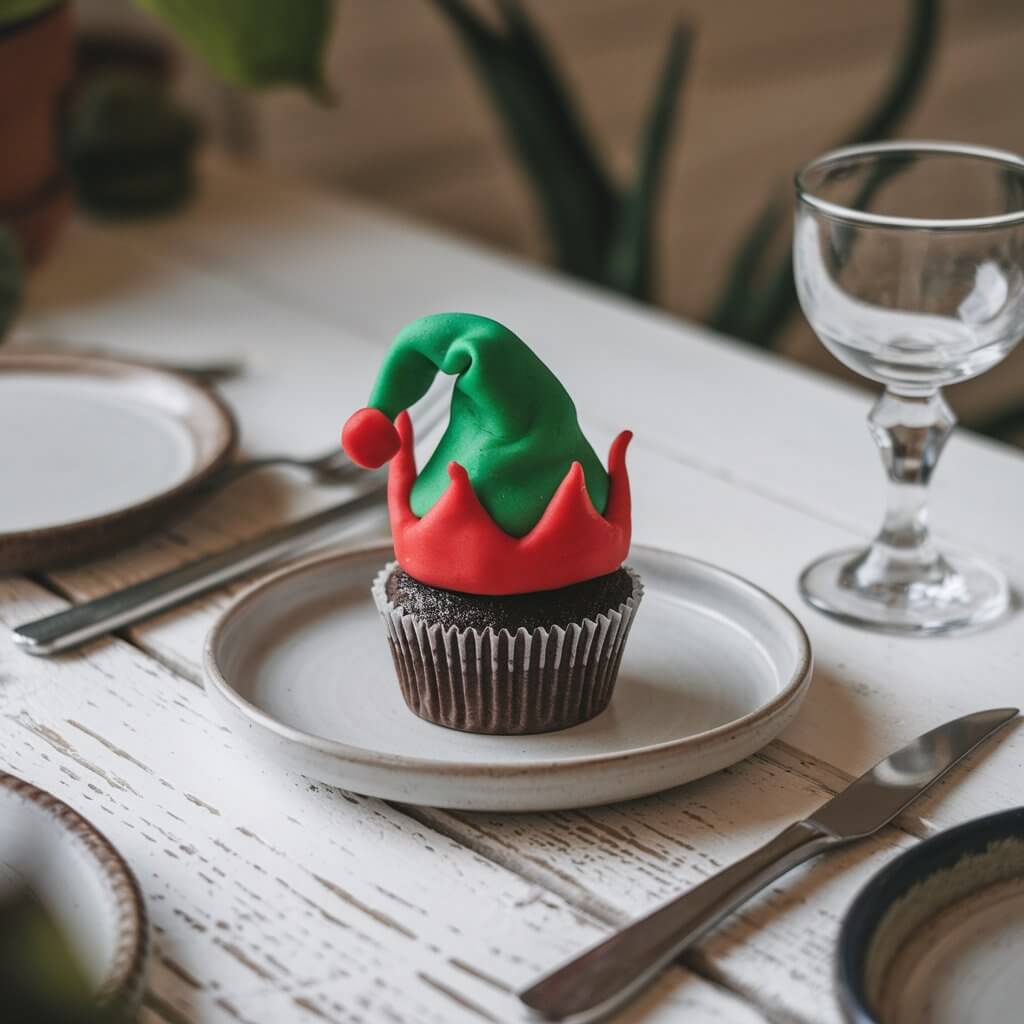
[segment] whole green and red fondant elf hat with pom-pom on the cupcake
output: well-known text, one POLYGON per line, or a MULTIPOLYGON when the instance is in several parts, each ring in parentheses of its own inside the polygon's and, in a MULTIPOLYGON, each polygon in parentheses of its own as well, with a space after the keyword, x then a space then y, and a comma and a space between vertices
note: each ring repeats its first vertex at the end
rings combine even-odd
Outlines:
POLYGON ((470 594, 553 590, 614 571, 630 544, 626 447, 605 471, 558 379, 508 328, 470 313, 414 321, 345 424, 353 462, 390 461, 395 553, 412 577, 470 594), (410 406, 456 377, 451 419, 423 470, 410 406))

